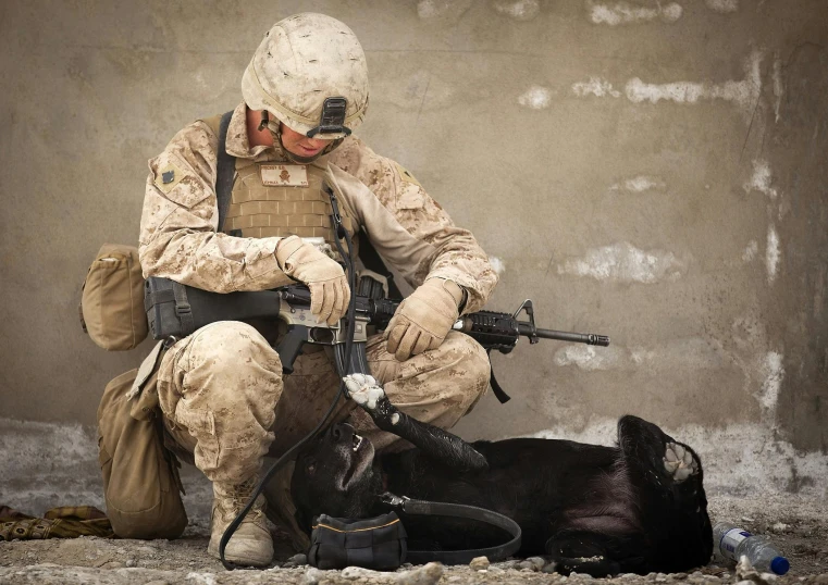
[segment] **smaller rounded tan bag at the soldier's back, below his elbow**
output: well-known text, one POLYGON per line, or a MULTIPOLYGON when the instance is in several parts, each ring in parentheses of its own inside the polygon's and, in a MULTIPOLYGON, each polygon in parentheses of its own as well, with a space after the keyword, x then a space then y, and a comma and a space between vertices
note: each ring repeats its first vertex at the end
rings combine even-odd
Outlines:
POLYGON ((135 246, 104 244, 83 286, 81 324, 109 351, 137 347, 147 337, 144 274, 135 246))

